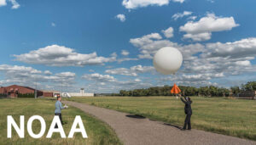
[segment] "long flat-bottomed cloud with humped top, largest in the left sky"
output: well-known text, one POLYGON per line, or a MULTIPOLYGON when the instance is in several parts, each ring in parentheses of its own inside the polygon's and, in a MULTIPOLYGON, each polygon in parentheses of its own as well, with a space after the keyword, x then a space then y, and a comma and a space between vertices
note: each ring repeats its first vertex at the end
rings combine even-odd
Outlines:
POLYGON ((15 60, 28 64, 45 64, 49 66, 84 66, 104 64, 116 61, 116 53, 109 58, 97 56, 94 53, 76 53, 73 48, 51 45, 33 50, 29 53, 14 55, 15 60))

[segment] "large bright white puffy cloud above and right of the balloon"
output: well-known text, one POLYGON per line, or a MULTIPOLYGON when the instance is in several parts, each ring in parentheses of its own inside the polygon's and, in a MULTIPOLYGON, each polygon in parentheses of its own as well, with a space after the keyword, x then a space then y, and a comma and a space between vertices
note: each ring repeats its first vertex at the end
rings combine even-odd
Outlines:
POLYGON ((199 21, 189 21, 179 27, 179 31, 185 31, 187 34, 183 38, 191 38, 194 41, 206 41, 211 38, 214 31, 230 31, 238 26, 233 17, 217 17, 215 14, 207 14, 199 21), (207 36, 207 38, 203 38, 207 36), (209 38, 210 37, 210 38, 209 38))

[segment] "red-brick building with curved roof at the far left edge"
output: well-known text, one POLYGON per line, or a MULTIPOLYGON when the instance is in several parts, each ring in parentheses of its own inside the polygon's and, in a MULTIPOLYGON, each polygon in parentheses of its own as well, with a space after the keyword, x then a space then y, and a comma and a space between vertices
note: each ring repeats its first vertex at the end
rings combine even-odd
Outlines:
MULTIPOLYGON (((28 87, 28 86, 18 86, 18 85, 11 85, 11 86, 1 86, 0 87, 0 94, 6 97, 17 98, 18 94, 34 94, 35 89, 28 87)), ((37 90, 38 96, 43 96, 43 92, 37 90)))

